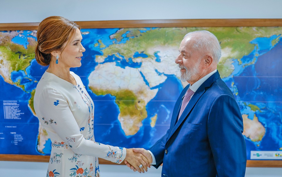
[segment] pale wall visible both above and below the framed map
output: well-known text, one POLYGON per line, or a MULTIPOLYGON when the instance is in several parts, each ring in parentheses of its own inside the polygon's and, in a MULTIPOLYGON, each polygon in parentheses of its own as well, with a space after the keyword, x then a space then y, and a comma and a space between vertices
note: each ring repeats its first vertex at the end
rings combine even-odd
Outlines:
MULTIPOLYGON (((281 0, 0 0, 0 23, 40 22, 52 15, 73 21, 143 19, 281 19, 281 0)), ((96 135, 99 136, 99 135, 96 135)), ((0 161, 1 176, 45 176, 48 163, 0 161)), ((161 176, 123 165, 100 165, 102 177, 161 176)), ((282 168, 247 168, 246 177, 281 177, 282 168)))

